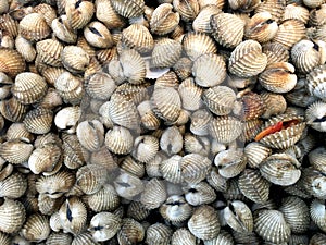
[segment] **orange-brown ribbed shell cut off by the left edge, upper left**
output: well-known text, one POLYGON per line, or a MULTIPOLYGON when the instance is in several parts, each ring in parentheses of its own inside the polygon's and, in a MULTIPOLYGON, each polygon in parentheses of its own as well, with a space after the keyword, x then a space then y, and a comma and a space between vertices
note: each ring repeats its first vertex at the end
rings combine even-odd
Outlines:
POLYGON ((0 49, 0 72, 14 77, 24 70, 25 61, 21 53, 12 49, 0 49))

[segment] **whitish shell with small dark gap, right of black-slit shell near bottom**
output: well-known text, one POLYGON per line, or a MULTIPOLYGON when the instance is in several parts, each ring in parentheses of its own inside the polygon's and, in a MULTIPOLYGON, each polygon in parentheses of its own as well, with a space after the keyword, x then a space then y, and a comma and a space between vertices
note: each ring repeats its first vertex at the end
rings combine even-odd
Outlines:
POLYGON ((89 231, 97 242, 111 240, 120 230, 122 220, 111 212, 99 212, 90 220, 89 231))

